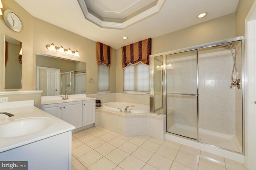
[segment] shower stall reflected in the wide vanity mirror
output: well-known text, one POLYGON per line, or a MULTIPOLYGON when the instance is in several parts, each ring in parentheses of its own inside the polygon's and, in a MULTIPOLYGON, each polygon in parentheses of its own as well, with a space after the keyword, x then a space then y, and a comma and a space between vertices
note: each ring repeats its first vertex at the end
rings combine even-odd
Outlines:
POLYGON ((61 73, 61 94, 85 94, 86 72, 69 71, 61 73))

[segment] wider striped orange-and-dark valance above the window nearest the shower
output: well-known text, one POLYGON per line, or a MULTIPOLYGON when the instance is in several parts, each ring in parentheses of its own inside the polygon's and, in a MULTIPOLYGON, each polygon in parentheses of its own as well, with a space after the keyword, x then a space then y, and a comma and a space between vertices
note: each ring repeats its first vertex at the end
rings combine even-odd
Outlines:
POLYGON ((149 65, 149 56, 151 55, 151 38, 126 45, 122 47, 122 67, 129 64, 143 63, 149 65))

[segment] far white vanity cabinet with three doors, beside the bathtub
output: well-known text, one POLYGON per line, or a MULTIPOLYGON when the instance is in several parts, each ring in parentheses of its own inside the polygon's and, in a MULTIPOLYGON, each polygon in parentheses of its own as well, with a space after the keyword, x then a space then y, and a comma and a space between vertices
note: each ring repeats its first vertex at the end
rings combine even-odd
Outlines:
POLYGON ((95 123, 95 99, 43 104, 41 109, 77 128, 95 123))

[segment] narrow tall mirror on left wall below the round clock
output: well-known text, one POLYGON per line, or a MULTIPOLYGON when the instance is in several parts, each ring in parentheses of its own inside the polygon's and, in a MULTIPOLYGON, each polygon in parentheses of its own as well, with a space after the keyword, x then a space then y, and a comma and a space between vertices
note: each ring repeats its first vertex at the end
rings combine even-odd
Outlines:
POLYGON ((22 84, 22 42, 5 38, 4 48, 4 88, 20 89, 22 84))

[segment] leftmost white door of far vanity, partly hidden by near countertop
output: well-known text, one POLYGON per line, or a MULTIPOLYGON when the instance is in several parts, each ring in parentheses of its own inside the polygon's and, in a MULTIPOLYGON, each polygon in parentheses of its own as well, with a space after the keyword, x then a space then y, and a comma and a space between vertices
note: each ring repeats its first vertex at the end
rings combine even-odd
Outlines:
POLYGON ((51 115, 54 115, 60 119, 62 119, 62 104, 46 104, 41 105, 41 109, 43 111, 46 111, 47 113, 50 113, 51 115))

